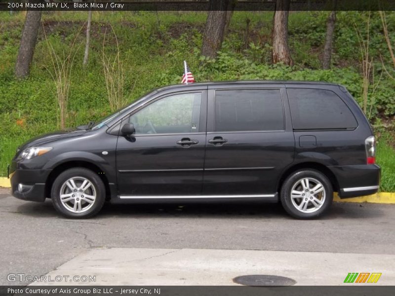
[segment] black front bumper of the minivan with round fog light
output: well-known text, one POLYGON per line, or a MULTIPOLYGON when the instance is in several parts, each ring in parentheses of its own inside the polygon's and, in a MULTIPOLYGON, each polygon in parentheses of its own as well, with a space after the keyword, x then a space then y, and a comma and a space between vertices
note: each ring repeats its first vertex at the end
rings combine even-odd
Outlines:
MULTIPOLYGON (((12 171, 12 169, 11 169, 12 171)), ((50 170, 14 170, 10 173, 11 194, 22 200, 45 200, 45 181, 50 170)))

